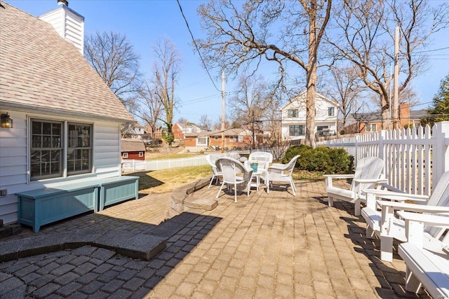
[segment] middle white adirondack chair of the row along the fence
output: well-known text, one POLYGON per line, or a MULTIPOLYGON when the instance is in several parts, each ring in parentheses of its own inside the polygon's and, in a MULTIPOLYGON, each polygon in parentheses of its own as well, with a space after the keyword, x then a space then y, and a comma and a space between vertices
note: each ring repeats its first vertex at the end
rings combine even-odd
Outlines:
MULTIPOLYGON (((380 238, 380 259, 393 260, 393 240, 407 241, 406 226, 403 219, 395 216, 396 211, 413 211, 415 213, 449 213, 449 172, 441 176, 434 192, 427 195, 413 195, 387 190, 367 189, 366 207, 362 216, 366 221, 366 236, 380 238), (380 200, 384 199, 384 200, 380 200), (415 203, 404 202, 406 200, 415 203), (378 210, 378 208, 380 210, 378 210)), ((424 227, 424 237, 439 239, 444 230, 431 226, 424 227)), ((427 246, 427 245, 426 245, 427 246)))

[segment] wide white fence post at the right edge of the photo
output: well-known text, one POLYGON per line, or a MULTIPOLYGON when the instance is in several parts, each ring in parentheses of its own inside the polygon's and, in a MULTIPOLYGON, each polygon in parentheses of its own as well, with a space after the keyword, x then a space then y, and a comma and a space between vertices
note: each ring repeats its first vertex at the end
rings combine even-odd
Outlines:
MULTIPOLYGON (((432 186, 449 170, 449 121, 436 123, 432 129, 432 186)), ((427 162, 427 161, 426 161, 427 162)))

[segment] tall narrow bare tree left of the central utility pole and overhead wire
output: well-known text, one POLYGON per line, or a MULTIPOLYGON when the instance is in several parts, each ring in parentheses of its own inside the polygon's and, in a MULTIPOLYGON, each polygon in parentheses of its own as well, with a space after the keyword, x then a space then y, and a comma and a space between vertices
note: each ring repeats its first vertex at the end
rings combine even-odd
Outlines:
POLYGON ((171 146, 174 140, 175 85, 180 71, 181 58, 175 45, 168 38, 157 40, 153 50, 156 55, 156 60, 153 64, 155 95, 163 107, 159 120, 165 123, 167 127, 167 132, 163 134, 163 139, 171 146))

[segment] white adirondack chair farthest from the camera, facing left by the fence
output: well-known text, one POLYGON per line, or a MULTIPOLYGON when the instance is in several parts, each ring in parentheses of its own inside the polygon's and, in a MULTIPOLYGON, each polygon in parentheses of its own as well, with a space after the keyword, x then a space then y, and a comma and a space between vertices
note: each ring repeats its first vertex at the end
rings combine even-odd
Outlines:
POLYGON ((364 189, 374 188, 379 183, 386 183, 384 179, 384 161, 377 157, 366 157, 358 160, 354 174, 326 174, 326 191, 328 205, 333 206, 334 200, 344 200, 354 204, 354 214, 360 215, 360 204, 366 202, 364 189), (351 188, 343 189, 333 186, 334 179, 352 179, 351 188))

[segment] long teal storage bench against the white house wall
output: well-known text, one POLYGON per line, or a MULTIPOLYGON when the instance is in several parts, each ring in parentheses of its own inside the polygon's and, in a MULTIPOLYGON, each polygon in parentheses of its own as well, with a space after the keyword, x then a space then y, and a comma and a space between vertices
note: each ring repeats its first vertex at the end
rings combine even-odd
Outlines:
POLYGON ((138 199, 138 184, 138 176, 116 176, 15 193, 18 223, 32 226, 38 232, 41 225, 87 211, 102 211, 110 204, 130 198, 138 199))

